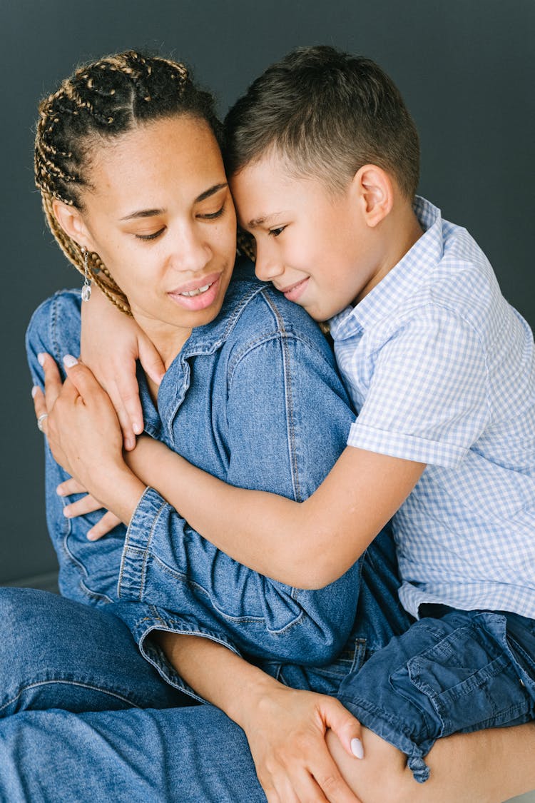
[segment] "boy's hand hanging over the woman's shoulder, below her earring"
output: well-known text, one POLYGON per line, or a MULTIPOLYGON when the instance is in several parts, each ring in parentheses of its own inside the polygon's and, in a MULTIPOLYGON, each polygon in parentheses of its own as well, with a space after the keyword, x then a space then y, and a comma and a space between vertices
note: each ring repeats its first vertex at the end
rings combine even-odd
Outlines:
POLYGON ((136 360, 156 385, 165 373, 160 354, 136 324, 110 304, 98 287, 91 301, 82 304, 81 355, 111 398, 120 421, 124 448, 136 446, 143 432, 143 410, 136 379, 136 360))

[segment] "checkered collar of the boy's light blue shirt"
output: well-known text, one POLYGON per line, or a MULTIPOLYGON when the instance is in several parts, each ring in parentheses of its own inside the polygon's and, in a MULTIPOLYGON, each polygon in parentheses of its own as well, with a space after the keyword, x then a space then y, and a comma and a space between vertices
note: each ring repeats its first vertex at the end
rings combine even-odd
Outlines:
POLYGON ((343 309, 330 319, 330 333, 334 340, 351 337, 391 315, 399 304, 414 295, 428 278, 429 271, 442 259, 444 243, 440 209, 419 195, 413 208, 424 234, 359 304, 343 309))

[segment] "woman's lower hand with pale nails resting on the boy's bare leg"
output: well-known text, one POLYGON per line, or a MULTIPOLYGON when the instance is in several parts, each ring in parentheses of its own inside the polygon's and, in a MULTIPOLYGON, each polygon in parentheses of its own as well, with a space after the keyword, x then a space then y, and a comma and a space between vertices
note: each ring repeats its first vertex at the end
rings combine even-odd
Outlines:
POLYGON ((237 721, 269 803, 358 803, 325 741, 330 729, 353 760, 363 758, 359 721, 338 700, 276 687, 237 721))

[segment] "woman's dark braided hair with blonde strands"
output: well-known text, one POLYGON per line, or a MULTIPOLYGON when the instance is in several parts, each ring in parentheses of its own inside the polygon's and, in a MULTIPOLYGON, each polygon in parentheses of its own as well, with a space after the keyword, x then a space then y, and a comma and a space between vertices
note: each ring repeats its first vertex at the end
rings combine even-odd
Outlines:
MULTIPOLYGON (((205 120, 219 145, 222 126, 209 92, 198 88, 184 64, 126 51, 79 67, 39 104, 35 136, 35 183, 55 239, 75 268, 84 273, 83 248, 59 226, 54 199, 83 210, 80 190, 91 188, 91 146, 148 122, 189 114, 205 120)), ((91 279, 104 295, 131 315, 128 299, 99 255, 87 255, 91 279)))

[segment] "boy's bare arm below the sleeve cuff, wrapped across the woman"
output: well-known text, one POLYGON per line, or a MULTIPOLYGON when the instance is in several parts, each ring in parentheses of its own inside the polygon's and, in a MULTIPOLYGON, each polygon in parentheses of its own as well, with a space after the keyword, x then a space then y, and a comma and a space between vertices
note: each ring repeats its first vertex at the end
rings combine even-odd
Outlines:
POLYGON ((258 573, 302 589, 322 588, 341 577, 425 468, 348 446, 318 490, 294 502, 226 485, 149 438, 140 439, 128 464, 214 546, 258 573))

